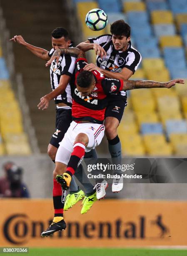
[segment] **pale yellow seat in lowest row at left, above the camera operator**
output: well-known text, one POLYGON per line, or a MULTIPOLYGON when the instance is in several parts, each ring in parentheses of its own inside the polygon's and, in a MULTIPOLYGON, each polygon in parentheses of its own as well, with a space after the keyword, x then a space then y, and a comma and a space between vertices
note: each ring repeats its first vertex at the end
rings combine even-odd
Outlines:
POLYGON ((28 143, 6 143, 5 144, 6 152, 8 155, 30 155, 31 148, 28 143))

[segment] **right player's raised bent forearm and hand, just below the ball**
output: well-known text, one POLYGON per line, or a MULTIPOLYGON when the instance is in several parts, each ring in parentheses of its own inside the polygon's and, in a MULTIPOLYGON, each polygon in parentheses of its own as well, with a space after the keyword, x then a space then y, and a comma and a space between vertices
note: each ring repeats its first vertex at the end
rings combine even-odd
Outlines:
POLYGON ((94 49, 95 54, 100 55, 101 58, 103 56, 107 56, 106 51, 102 48, 102 46, 100 46, 99 44, 92 44, 89 40, 78 44, 76 47, 84 52, 94 49))

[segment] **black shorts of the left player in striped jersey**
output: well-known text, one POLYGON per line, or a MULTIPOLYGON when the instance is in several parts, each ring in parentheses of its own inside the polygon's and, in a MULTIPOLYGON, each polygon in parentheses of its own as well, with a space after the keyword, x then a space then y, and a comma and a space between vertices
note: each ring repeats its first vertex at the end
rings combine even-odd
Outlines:
POLYGON ((72 122, 72 111, 71 109, 57 108, 56 109, 56 129, 52 134, 50 144, 55 148, 60 146, 60 142, 64 138, 67 129, 70 127, 72 122))

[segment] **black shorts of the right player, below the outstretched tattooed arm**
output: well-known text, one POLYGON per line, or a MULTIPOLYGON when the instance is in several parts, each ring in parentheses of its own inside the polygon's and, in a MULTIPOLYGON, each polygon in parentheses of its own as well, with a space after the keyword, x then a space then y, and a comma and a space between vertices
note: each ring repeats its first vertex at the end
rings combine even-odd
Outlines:
POLYGON ((127 96, 110 95, 108 97, 109 98, 105 111, 105 118, 115 117, 120 122, 123 116, 123 112, 127 106, 127 96))

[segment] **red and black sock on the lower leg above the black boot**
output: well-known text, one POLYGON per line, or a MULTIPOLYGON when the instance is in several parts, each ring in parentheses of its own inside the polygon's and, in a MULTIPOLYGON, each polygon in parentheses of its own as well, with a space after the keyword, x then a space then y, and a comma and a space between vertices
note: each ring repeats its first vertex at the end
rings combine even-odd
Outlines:
POLYGON ((55 209, 55 217, 57 216, 63 217, 64 203, 62 203, 62 187, 56 181, 56 179, 53 179, 52 195, 53 195, 53 205, 55 209))

